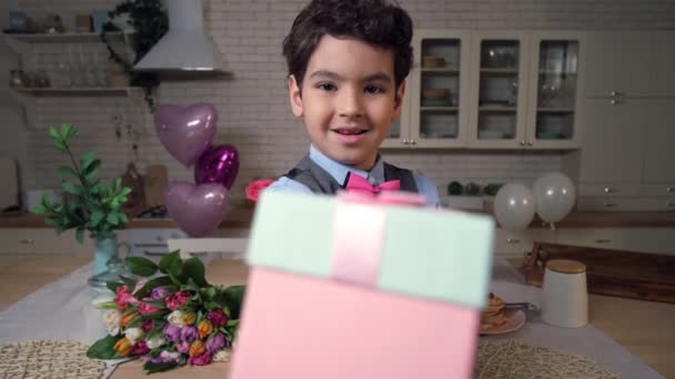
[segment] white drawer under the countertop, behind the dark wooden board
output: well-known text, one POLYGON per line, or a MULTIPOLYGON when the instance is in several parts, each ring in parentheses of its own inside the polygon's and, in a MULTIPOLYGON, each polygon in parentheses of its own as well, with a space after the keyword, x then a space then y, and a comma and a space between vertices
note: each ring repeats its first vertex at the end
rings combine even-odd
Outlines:
POLYGON ((672 228, 564 228, 556 234, 558 244, 675 255, 672 228))

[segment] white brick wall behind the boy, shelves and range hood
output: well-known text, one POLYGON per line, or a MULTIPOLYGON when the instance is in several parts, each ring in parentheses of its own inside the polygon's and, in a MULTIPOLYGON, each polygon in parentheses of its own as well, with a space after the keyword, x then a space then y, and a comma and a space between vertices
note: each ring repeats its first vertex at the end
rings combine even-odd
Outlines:
MULTIPOLYGON (((112 0, 20 0, 20 8, 33 16, 58 11, 68 24, 78 12, 112 8, 112 0)), ((309 145, 304 127, 293 120, 285 91, 285 66, 281 41, 304 0, 210 0, 206 25, 225 60, 229 80, 164 82, 162 103, 210 102, 219 110, 216 143, 234 144, 241 154, 241 170, 233 196, 254 177, 281 175, 292 167, 309 145)), ((674 29, 672 0, 401 0, 417 28, 453 29, 674 29)), ((95 47, 89 47, 94 49, 95 47)), ((100 49, 100 47, 98 47, 100 49)), ((53 48, 36 47, 28 65, 49 70, 57 54, 53 48), (42 50, 40 50, 42 49, 42 50)), ((104 54, 103 51, 101 51, 104 54)), ((52 167, 62 160, 50 147, 48 125, 69 122, 82 131, 78 153, 94 148, 104 160, 103 175, 121 174, 133 161, 131 140, 117 139, 112 114, 123 110, 125 120, 141 132, 138 165, 164 163, 172 178, 192 178, 192 172, 175 162, 161 146, 145 114, 142 99, 41 99, 38 130, 28 133, 28 187, 58 185, 52 167)), ((394 164, 426 173, 445 192, 452 180, 478 183, 522 181, 560 170, 555 153, 481 152, 386 152, 394 164)))

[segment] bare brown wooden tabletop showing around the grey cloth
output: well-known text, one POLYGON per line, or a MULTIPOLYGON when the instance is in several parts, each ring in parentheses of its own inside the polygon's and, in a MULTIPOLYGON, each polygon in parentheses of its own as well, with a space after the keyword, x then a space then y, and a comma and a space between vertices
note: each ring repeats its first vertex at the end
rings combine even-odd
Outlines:
MULTIPOLYGON (((0 255, 0 309, 89 262, 85 257, 0 255)), ((242 263, 216 260, 209 265, 210 283, 245 283, 242 263)), ((675 305, 607 296, 590 296, 591 324, 638 356, 666 378, 675 378, 675 305)), ((145 378, 140 362, 115 370, 112 378, 145 378)), ((153 375, 157 378, 223 378, 226 363, 185 367, 153 375)))

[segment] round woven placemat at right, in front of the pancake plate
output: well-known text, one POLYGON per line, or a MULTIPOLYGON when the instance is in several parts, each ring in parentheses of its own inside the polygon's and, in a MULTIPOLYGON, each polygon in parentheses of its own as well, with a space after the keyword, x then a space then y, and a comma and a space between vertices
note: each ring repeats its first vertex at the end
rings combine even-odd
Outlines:
POLYGON ((524 341, 495 340, 478 345, 474 378, 615 379, 618 376, 586 357, 524 341))

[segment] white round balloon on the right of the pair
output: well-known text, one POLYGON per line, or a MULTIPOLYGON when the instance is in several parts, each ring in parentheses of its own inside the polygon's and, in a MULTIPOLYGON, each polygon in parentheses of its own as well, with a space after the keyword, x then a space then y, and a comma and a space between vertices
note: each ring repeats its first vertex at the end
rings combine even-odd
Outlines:
POLYGON ((547 223, 557 223, 570 214, 576 201, 572 180, 561 173, 548 173, 537 178, 533 186, 536 213, 547 223))

